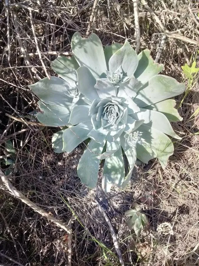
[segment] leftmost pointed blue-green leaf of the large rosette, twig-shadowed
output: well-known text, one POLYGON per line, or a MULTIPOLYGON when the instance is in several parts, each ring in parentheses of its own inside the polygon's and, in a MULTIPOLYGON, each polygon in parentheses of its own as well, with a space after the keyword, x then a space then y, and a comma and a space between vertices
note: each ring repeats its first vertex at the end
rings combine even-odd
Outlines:
POLYGON ((29 85, 42 102, 70 108, 73 98, 64 93, 68 86, 69 83, 59 77, 50 77, 50 80, 46 77, 29 85))

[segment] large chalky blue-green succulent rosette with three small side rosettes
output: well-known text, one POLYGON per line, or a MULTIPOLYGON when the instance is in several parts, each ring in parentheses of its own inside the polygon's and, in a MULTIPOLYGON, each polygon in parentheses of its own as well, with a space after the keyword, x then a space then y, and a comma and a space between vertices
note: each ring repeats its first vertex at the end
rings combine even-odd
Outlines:
POLYGON ((158 158, 164 168, 174 150, 167 135, 180 139, 170 121, 182 120, 175 100, 168 98, 183 93, 185 86, 159 74, 163 66, 154 63, 150 51, 137 55, 127 40, 103 49, 96 34, 82 38, 76 32, 71 49, 73 56, 52 62, 59 77, 30 85, 40 98, 37 119, 47 126, 68 126, 52 136, 54 151, 70 153, 88 139, 77 173, 94 188, 105 159, 105 192, 113 185, 124 188, 136 158, 144 163, 158 158))

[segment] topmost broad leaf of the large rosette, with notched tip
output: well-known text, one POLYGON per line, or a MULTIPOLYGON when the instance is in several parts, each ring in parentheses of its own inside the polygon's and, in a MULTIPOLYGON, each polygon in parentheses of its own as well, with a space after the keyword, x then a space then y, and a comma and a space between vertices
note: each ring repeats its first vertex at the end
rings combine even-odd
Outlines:
POLYGON ((105 73, 107 68, 103 46, 95 33, 91 33, 88 38, 82 38, 78 32, 74 33, 71 49, 79 65, 88 67, 95 78, 105 73))

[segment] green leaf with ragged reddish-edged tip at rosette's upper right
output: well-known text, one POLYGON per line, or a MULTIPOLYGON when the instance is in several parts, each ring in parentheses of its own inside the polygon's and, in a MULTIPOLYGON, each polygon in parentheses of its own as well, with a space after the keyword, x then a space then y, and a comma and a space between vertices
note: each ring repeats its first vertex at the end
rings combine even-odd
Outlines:
POLYGON ((151 77, 159 74, 163 69, 163 64, 154 63, 148 49, 139 53, 138 60, 138 66, 134 76, 142 84, 145 84, 151 77))

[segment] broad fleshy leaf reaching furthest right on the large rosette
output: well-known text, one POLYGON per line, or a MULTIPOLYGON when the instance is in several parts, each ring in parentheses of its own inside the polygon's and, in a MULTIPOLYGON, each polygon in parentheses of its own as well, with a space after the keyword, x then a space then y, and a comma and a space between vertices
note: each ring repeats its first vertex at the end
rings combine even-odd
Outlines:
POLYGON ((183 93, 185 85, 172 77, 156 75, 139 90, 134 102, 145 107, 183 93))

